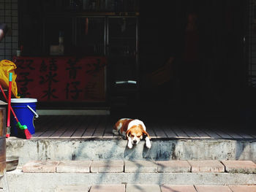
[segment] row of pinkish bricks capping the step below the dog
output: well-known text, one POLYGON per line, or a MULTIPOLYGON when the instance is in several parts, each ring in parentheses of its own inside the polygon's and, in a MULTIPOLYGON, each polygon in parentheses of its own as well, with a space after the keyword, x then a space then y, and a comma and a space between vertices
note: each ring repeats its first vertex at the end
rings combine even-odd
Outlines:
POLYGON ((252 161, 29 161, 24 173, 50 172, 109 172, 109 173, 176 173, 176 172, 232 172, 256 173, 252 161))

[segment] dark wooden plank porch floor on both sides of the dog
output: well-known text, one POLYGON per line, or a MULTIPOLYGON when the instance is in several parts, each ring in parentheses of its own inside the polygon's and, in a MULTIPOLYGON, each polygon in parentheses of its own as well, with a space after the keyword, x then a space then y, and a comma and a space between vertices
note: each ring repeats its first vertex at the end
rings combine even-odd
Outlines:
MULTIPOLYGON (((32 139, 109 139, 117 118, 109 115, 41 115, 34 121, 36 132, 32 139)), ((256 133, 227 122, 188 123, 183 120, 141 119, 152 139, 256 139, 256 133)))

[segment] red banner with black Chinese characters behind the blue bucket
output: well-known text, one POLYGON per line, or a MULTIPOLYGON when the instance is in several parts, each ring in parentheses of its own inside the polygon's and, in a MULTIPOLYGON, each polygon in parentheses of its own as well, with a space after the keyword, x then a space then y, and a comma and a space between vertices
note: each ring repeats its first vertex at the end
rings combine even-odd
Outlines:
POLYGON ((105 101, 105 57, 15 57, 18 93, 38 101, 105 101))

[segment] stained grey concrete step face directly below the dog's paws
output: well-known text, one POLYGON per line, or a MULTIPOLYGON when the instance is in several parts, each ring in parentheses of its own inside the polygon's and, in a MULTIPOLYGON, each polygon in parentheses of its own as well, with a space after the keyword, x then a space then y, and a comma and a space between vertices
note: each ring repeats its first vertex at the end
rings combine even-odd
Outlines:
POLYGON ((28 161, 66 160, 248 160, 256 162, 256 141, 235 139, 151 139, 131 150, 121 137, 104 139, 7 139, 7 155, 28 161))

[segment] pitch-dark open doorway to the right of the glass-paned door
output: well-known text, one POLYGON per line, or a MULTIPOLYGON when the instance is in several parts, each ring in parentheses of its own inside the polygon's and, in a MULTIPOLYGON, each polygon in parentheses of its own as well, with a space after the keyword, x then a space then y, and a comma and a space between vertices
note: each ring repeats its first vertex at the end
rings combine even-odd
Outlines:
POLYGON ((140 103, 181 116, 235 115, 244 102, 244 1, 140 7, 140 103))

